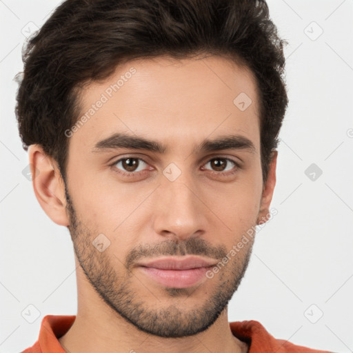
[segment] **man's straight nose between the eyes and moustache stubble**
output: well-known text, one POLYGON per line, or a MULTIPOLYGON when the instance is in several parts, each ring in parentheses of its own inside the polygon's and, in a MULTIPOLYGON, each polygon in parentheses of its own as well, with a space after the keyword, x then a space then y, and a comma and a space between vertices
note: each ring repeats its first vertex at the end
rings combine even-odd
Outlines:
POLYGON ((165 238, 183 241, 200 236, 208 227, 208 208, 202 192, 186 177, 164 179, 155 195, 154 231, 165 238))

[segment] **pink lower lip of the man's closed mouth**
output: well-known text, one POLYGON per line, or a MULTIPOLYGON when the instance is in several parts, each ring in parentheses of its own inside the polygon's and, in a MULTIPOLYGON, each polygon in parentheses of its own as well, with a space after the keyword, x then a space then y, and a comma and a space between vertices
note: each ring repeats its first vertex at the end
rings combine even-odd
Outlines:
POLYGON ((170 288, 187 288, 196 285, 201 279, 207 278, 205 274, 211 267, 190 270, 161 270, 160 268, 140 266, 141 270, 154 281, 170 288))

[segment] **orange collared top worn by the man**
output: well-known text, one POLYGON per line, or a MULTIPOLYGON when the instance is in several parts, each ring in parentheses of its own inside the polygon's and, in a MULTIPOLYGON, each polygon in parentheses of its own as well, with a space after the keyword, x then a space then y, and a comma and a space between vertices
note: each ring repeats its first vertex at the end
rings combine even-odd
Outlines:
MULTIPOLYGON (((21 353, 65 353, 58 339, 68 332, 75 318, 76 315, 44 316, 38 341, 21 353)), ((332 353, 274 339, 259 321, 234 321, 230 329, 237 339, 250 345, 248 353, 332 353)))

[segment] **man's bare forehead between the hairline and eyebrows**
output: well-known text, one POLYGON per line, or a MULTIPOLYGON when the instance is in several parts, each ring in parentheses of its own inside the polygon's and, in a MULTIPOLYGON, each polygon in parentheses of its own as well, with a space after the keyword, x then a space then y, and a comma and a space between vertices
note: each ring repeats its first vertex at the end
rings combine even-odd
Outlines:
POLYGON ((254 75, 223 57, 128 61, 104 81, 85 85, 80 97, 81 123, 70 145, 80 141, 85 150, 113 132, 179 145, 243 132, 259 145, 254 75))

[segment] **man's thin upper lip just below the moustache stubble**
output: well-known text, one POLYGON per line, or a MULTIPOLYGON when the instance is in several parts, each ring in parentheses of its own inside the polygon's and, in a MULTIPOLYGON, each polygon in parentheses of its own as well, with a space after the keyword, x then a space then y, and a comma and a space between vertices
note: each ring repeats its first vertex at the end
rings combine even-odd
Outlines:
POLYGON ((190 270, 192 268, 206 268, 214 264, 214 260, 203 259, 199 256, 169 256, 142 261, 137 265, 148 268, 159 268, 161 270, 190 270))

